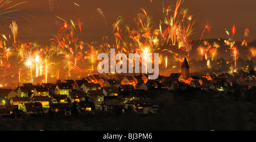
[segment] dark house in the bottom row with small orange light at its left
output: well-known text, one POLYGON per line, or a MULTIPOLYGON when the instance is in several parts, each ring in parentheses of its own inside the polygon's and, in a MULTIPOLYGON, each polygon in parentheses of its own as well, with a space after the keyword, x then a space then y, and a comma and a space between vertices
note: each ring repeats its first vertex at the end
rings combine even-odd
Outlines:
POLYGON ((71 103, 54 103, 51 105, 53 115, 71 115, 71 103))

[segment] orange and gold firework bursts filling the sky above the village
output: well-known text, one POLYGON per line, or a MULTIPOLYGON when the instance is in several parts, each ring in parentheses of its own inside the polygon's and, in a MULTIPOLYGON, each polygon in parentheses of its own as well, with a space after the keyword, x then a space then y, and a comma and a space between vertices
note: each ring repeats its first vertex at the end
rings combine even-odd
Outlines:
MULTIPOLYGON (((126 24, 121 15, 116 18, 112 27, 109 27, 104 11, 101 8, 95 8, 91 20, 97 14, 100 15, 104 20, 105 27, 111 28, 109 31, 113 37, 113 41, 111 41, 110 36, 104 36, 101 43, 86 42, 86 39, 82 37, 85 32, 82 29, 82 24, 86 21, 82 21, 80 18, 64 19, 56 15, 57 19, 61 20, 59 22, 61 26, 49 39, 50 46, 19 40, 19 24, 16 23, 18 16, 13 14, 18 10, 13 10, 13 8, 21 4, 24 5, 24 2, 8 6, 11 3, 13 2, 0 2, 2 4, 0 7, 1 23, 8 25, 12 33, 12 35, 2 34, 0 37, 0 59, 1 67, 4 68, 3 76, 5 76, 7 68, 15 66, 17 70, 14 72, 19 75, 19 82, 29 81, 33 83, 34 78, 41 78, 44 83, 47 83, 49 76, 55 76, 55 79, 59 79, 60 74, 69 78, 75 73, 93 72, 97 68, 97 55, 102 52, 109 54, 110 48, 114 48, 116 53, 143 53, 146 63, 150 62, 147 60, 150 53, 159 53, 159 64, 163 65, 163 68, 168 68, 170 62, 180 64, 185 57, 189 61, 189 54, 194 47, 190 37, 195 33, 193 28, 195 19, 189 15, 188 8, 182 7, 183 1, 181 0, 177 0, 176 4, 172 6, 163 5, 163 18, 159 23, 155 23, 154 17, 148 14, 145 8, 139 9, 139 13, 134 16, 134 27, 126 24), (22 76, 30 76, 30 78, 26 80, 22 79, 22 76)), ((51 13, 55 13, 55 4, 55 1, 49 1, 51 13)), ((76 2, 73 4, 74 7, 82 7, 76 2)), ((235 24, 231 28, 231 34, 225 29, 229 38, 224 43, 202 40, 205 31, 211 33, 211 29, 212 25, 207 21, 203 25, 203 33, 197 47, 200 57, 205 58, 209 67, 209 64, 218 58, 218 50, 222 44, 225 44, 229 46, 234 67, 237 67, 239 50, 233 38, 237 32, 235 24)), ((249 37, 248 28, 245 29, 241 46, 248 46, 247 37, 249 37)), ((256 55, 255 47, 247 48, 249 57, 254 58, 256 55)), ((176 65, 171 68, 176 68, 176 65)), ((72 77, 76 78, 77 76, 72 77)))

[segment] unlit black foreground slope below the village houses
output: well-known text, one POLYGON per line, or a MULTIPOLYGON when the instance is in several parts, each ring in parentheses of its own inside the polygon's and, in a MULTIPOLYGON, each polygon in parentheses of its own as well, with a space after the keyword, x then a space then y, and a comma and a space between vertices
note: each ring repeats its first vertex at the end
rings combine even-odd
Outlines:
POLYGON ((243 96, 161 92, 158 114, 97 113, 81 117, 0 119, 0 130, 256 130, 256 106, 243 96))

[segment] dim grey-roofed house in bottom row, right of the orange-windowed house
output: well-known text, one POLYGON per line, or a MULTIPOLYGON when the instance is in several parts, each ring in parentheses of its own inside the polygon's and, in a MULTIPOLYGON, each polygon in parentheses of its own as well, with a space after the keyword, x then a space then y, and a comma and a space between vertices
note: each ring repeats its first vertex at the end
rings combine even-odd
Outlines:
POLYGON ((122 104, 121 101, 105 101, 104 102, 104 110, 105 111, 118 111, 120 113, 125 112, 125 105, 122 104))

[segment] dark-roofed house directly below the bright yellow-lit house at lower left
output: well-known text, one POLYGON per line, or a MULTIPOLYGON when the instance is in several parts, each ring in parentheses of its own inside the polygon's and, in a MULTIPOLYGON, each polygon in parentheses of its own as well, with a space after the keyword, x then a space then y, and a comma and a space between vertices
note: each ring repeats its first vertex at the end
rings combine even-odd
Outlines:
POLYGON ((27 115, 42 115, 43 114, 43 107, 41 103, 35 102, 35 103, 26 103, 25 106, 25 112, 27 115))

